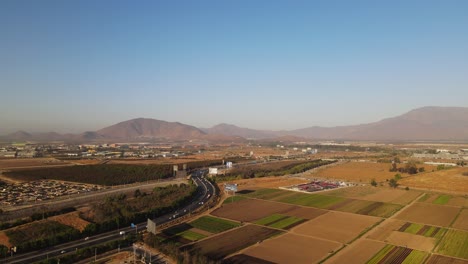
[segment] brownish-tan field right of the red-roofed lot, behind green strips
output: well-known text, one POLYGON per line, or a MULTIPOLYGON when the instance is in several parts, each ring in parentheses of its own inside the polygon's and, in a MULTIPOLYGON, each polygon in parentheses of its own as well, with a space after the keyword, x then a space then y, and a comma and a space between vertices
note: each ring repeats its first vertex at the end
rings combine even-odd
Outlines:
POLYGON ((389 187, 355 186, 327 191, 327 195, 367 201, 406 205, 421 195, 420 191, 401 190, 389 187))

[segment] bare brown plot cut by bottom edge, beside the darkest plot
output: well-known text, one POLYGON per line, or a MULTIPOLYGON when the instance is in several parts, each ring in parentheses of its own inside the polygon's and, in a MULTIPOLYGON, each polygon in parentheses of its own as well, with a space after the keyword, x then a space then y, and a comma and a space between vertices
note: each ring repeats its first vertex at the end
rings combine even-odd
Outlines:
POLYGON ((340 247, 337 242, 289 233, 250 247, 243 254, 274 263, 317 263, 340 247))

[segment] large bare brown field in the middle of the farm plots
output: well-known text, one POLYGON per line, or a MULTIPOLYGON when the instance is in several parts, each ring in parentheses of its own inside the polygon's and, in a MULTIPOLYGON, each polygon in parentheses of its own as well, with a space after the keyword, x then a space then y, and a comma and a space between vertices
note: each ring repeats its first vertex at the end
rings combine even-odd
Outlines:
POLYGON ((379 220, 378 217, 366 215, 328 212, 293 228, 291 231, 299 235, 346 243, 379 220))

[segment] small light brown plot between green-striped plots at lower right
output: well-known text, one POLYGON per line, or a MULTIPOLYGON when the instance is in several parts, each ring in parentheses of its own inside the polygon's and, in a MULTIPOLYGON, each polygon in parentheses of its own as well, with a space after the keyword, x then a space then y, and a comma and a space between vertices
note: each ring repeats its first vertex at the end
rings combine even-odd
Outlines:
POLYGON ((431 252, 436 242, 435 238, 432 237, 418 236, 398 231, 391 232, 386 238, 386 241, 392 245, 409 247, 426 252, 431 252))

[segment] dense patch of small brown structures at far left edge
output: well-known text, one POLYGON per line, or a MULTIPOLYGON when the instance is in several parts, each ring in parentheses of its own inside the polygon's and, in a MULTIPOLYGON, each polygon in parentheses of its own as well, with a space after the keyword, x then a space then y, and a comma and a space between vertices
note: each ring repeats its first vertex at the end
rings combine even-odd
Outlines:
POLYGON ((0 206, 50 200, 64 195, 101 190, 97 185, 59 181, 32 181, 0 186, 0 206))

